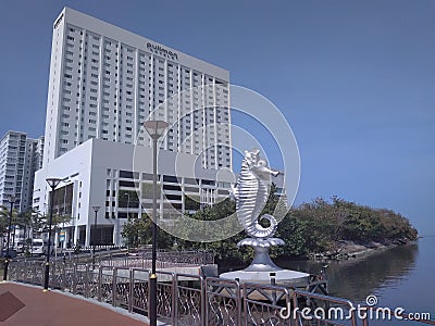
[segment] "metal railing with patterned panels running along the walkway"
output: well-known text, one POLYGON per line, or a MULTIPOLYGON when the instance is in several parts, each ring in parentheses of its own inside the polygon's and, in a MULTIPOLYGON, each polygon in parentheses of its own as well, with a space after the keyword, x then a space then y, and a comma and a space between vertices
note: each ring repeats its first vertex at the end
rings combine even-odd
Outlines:
MULTIPOLYGON (((53 262, 52 288, 123 308, 148 316, 150 272, 75 262, 53 262)), ((44 263, 13 261, 10 279, 42 285, 44 263)), ((158 318, 179 326, 336 326, 369 325, 358 316, 352 302, 282 286, 240 284, 201 275, 158 272, 158 318), (316 315, 322 309, 327 315, 316 315), (308 310, 309 312, 304 311, 308 310), (343 315, 337 315, 337 312, 343 315), (334 315, 330 315, 334 312, 334 315)), ((430 321, 426 324, 434 325, 430 321)))

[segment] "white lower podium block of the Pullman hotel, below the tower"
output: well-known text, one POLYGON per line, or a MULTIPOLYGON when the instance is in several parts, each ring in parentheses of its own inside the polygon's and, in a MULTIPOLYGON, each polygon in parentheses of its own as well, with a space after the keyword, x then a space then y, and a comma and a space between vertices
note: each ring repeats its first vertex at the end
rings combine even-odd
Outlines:
MULTIPOLYGON (((53 213, 72 217, 62 225, 64 246, 89 246, 96 238, 98 244, 122 244, 124 224, 152 209, 149 147, 92 138, 46 164, 36 173, 34 191, 34 208, 42 215, 48 214, 48 176, 62 179, 53 213), (94 206, 99 206, 97 223, 94 206)), ((158 214, 162 223, 171 223, 227 198, 235 178, 228 170, 202 168, 197 155, 160 150, 158 180, 158 214)))

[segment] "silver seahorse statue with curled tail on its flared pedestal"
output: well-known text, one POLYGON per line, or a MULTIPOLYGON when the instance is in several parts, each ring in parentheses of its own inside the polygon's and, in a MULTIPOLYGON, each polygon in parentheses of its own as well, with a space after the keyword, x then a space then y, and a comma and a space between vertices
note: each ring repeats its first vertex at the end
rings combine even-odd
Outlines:
POLYGON ((281 268, 271 261, 269 247, 282 246, 284 241, 272 238, 277 227, 276 218, 269 214, 261 216, 260 214, 269 198, 271 176, 277 176, 278 172, 269 168, 259 153, 257 149, 245 151, 240 175, 232 188, 232 196, 236 200, 237 218, 251 237, 239 241, 237 246, 250 246, 256 252, 251 265, 245 271, 277 271, 281 268), (263 227, 260 224, 261 220, 268 220, 270 226, 263 227))

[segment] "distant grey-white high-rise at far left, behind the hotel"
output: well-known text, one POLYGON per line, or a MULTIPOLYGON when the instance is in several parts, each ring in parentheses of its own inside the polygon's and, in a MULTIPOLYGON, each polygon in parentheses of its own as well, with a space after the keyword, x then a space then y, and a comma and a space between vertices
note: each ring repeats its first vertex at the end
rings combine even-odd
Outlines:
POLYGON ((42 165, 44 137, 28 138, 25 133, 8 131, 0 140, 0 204, 24 212, 32 208, 35 172, 42 165))

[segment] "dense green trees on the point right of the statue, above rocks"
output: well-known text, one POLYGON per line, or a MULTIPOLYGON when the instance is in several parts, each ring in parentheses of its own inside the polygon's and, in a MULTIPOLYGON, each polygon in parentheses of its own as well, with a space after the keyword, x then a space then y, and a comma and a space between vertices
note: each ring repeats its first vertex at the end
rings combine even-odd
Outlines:
POLYGON ((306 251, 323 252, 337 248, 338 241, 390 243, 417 239, 418 231, 400 214, 385 209, 372 209, 333 197, 303 203, 293 210, 303 225, 306 251))

